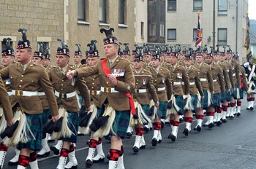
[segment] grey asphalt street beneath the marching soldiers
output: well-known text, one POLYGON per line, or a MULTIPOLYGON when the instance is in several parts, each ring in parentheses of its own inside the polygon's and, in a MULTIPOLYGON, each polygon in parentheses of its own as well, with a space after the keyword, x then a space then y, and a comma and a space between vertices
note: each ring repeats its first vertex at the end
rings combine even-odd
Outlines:
MULTIPOLYGON (((178 139, 172 142, 167 138, 170 126, 165 125, 162 130, 162 143, 156 147, 151 146, 153 131, 145 134, 146 149, 140 149, 135 154, 132 146, 135 135, 124 139, 124 165, 126 169, 153 169, 153 168, 256 168, 256 135, 254 111, 246 110, 246 98, 242 102, 241 117, 227 119, 227 123, 221 127, 216 125, 212 129, 203 127, 200 133, 192 130, 188 136, 182 132, 185 124, 182 123, 178 130, 178 139)), ((194 118, 195 119, 195 118, 194 118)), ((206 118, 204 119, 206 122, 206 118)), ((203 123, 204 123, 203 122, 203 123)), ((192 122, 192 129, 195 127, 192 122)), ((78 168, 85 168, 85 160, 88 153, 86 141, 89 135, 78 137, 76 157, 78 168)), ((110 149, 110 141, 102 139, 105 155, 110 149)), ((56 144, 50 143, 50 145, 56 144)), ((7 152, 4 168, 16 168, 8 166, 8 161, 14 157, 11 147, 7 152)), ((50 152, 49 157, 39 159, 39 168, 56 168, 59 157, 50 152)), ((108 168, 108 160, 94 164, 91 168, 108 168)))

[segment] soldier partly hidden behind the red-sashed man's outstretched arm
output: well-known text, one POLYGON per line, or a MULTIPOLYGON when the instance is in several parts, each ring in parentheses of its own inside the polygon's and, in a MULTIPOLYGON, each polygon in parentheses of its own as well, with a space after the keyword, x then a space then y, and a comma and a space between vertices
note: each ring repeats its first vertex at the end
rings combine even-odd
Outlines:
MULTIPOLYGON (((99 63, 99 52, 96 47, 93 47, 91 48, 91 50, 86 51, 86 57, 88 66, 90 67, 96 66, 97 63, 99 63)), ((94 109, 97 109, 95 110, 97 111, 96 118, 102 117, 104 109, 102 108, 102 105, 99 104, 99 96, 102 94, 102 92, 100 91, 99 74, 86 77, 86 83, 90 91, 91 106, 94 106, 94 109)), ((93 162, 104 162, 104 160, 105 154, 102 149, 102 138, 95 137, 94 132, 91 131, 89 152, 88 156, 86 157, 86 168, 90 168, 93 162), (95 149, 97 149, 96 157, 94 157, 95 149)))

